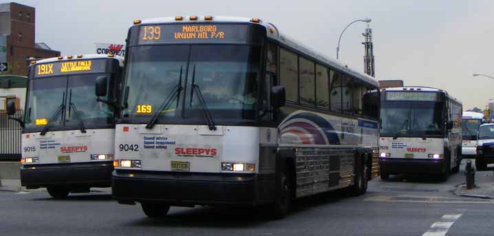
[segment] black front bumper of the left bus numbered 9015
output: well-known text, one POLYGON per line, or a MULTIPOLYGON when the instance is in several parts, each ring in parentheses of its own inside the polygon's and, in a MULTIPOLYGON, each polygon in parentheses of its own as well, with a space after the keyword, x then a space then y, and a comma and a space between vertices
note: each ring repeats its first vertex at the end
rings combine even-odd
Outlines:
POLYGON ((46 186, 111 186, 113 162, 30 164, 21 167, 21 185, 27 189, 46 186))

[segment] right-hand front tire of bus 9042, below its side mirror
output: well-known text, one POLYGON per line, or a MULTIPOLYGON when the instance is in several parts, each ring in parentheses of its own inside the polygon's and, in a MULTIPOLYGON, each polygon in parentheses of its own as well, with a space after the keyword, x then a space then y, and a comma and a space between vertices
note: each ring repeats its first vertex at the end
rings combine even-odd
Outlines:
POLYGON ((275 196, 275 209, 274 219, 283 219, 288 215, 290 211, 290 204, 292 202, 292 181, 288 174, 288 169, 281 169, 276 180, 276 196, 275 196))

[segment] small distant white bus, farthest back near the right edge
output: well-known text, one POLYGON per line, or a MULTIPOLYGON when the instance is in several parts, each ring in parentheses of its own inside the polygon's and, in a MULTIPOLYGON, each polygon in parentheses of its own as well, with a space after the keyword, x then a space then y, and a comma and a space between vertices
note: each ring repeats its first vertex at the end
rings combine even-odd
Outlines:
POLYGON ((463 111, 462 115, 462 157, 475 158, 477 156, 477 134, 482 125, 484 114, 473 111, 463 111))

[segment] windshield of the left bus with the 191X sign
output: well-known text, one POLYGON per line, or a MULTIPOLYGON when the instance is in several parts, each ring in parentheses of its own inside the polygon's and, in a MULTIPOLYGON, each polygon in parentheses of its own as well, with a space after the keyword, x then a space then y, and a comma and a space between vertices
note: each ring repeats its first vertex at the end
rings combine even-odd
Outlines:
POLYGON ((86 127, 111 125, 113 112, 106 103, 98 102, 94 95, 96 78, 105 75, 78 74, 32 79, 25 114, 26 128, 43 129, 60 107, 61 114, 50 123, 52 128, 78 127, 77 116, 86 127))

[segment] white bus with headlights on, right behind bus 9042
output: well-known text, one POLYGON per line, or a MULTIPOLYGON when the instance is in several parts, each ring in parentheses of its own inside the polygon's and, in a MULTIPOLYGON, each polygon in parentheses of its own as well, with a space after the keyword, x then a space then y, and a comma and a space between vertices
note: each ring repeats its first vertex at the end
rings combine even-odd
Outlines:
POLYGON ((380 176, 431 173, 447 179, 461 161, 462 104, 442 89, 381 89, 380 176))

